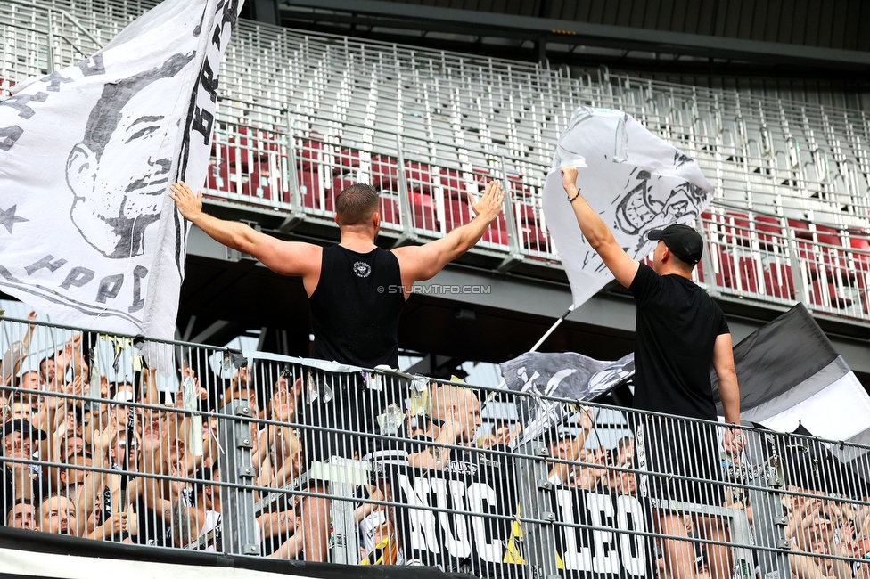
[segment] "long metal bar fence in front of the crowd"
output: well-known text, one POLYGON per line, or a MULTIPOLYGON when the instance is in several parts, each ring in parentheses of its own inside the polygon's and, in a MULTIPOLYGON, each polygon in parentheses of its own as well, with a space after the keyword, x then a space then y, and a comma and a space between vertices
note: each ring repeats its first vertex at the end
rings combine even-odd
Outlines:
POLYGON ((870 567, 868 447, 9 319, 0 351, 8 526, 488 577, 870 567))

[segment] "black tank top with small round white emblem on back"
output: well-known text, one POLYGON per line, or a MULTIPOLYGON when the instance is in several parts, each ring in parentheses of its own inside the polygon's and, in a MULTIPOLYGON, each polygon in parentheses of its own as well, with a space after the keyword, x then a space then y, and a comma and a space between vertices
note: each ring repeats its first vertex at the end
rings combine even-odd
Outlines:
POLYGON ((311 294, 311 356, 373 368, 398 368, 398 316, 405 306, 398 258, 375 248, 357 253, 324 248, 320 281, 311 294))

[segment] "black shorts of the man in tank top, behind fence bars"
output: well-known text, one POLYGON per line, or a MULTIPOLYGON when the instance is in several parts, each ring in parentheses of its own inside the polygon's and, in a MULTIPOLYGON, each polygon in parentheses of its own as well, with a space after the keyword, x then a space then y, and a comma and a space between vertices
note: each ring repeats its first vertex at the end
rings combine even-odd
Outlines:
POLYGON ((310 381, 308 377, 303 380, 302 403, 297 418, 302 425, 302 453, 306 468, 313 461, 327 461, 332 456, 358 459, 373 451, 401 447, 398 442, 376 437, 403 436, 404 420, 401 420, 397 433, 389 427, 382 429, 378 421, 390 404, 396 404, 399 412, 404 408, 403 391, 406 387, 400 380, 382 377, 380 390, 369 387, 368 380, 359 373, 316 372, 310 381), (310 393, 306 389, 315 387, 318 396, 309 404, 310 393))

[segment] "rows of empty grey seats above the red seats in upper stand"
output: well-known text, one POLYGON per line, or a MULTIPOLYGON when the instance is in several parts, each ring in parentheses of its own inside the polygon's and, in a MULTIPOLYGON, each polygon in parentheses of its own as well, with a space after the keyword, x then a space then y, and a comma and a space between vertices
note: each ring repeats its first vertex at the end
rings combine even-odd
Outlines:
MULTIPOLYGON (((46 2, 45 4, 53 4, 46 2)), ((101 38, 144 9, 70 6, 101 38)), ((145 3, 147 4, 147 3, 145 3)), ((113 5, 112 3, 109 4, 113 5)), ((425 150, 461 139, 539 164, 579 104, 626 110, 717 175, 718 198, 744 208, 867 228, 866 143, 857 110, 764 95, 678 86, 242 21, 227 54, 222 94, 343 121, 375 118, 397 135, 424 135, 425 150), (457 122, 458 121, 458 122, 457 122), (458 128, 457 128, 458 127, 458 128)), ((14 44, 14 42, 13 42, 14 44)), ((30 74, 37 74, 41 69, 30 74)), ((0 77, 4 77, 0 72, 0 77)))

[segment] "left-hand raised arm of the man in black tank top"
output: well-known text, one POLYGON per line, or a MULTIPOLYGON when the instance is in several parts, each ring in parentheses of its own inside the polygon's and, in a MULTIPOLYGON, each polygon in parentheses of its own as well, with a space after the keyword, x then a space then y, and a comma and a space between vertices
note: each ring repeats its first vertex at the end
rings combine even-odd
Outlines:
POLYGON ((199 227, 218 243, 241 251, 259 260, 275 273, 300 275, 308 288, 313 278, 314 286, 320 277, 322 249, 311 243, 281 241, 261 233, 238 221, 224 221, 202 211, 202 192, 195 195, 185 183, 172 183, 169 197, 185 219, 199 227))

